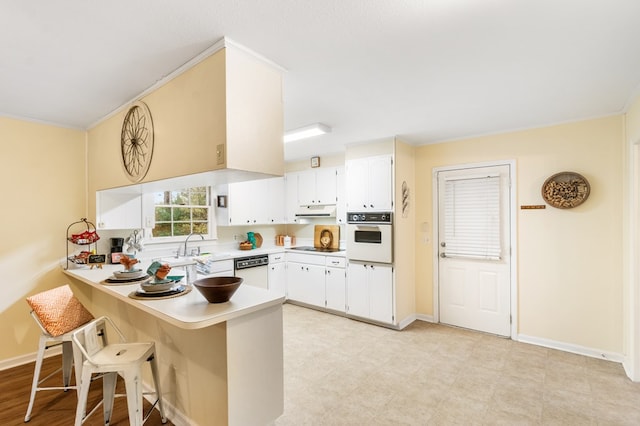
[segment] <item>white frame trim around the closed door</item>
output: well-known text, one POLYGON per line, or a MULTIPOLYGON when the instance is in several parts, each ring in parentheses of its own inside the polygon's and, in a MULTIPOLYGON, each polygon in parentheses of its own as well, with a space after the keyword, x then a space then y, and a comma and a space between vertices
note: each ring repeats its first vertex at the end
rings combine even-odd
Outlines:
POLYGON ((515 160, 499 160, 481 163, 465 163, 452 166, 435 167, 431 172, 432 184, 432 206, 433 206, 433 228, 432 228, 432 262, 433 262, 433 321, 440 322, 440 271, 438 257, 438 241, 440 241, 439 227, 439 197, 438 197, 438 173, 474 169, 480 167, 509 166, 509 245, 511 246, 511 259, 509 262, 509 300, 511 312, 511 339, 518 340, 518 281, 517 281, 517 210, 516 210, 516 161, 515 160))

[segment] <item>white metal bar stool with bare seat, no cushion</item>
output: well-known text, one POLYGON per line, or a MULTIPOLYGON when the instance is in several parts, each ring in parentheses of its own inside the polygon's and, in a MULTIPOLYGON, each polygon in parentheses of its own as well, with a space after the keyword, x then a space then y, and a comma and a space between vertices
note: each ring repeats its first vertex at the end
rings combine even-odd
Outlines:
POLYGON ((73 343, 82 352, 85 359, 82 365, 82 379, 80 381, 75 426, 82 425, 84 420, 100 406, 100 403, 97 404, 89 414, 84 415, 87 409, 87 396, 93 373, 102 374, 104 424, 109 424, 111 421, 118 374, 124 378, 129 423, 131 425, 141 426, 149 418, 156 405, 159 405, 162 423, 167 422, 160 389, 155 343, 126 343, 122 332, 108 317, 100 317, 76 330, 73 333, 73 343), (118 334, 118 343, 109 343, 107 339, 107 323, 109 328, 112 328, 118 334), (149 413, 143 416, 142 398, 146 393, 142 390, 142 364, 145 362, 151 364, 156 400, 149 413))

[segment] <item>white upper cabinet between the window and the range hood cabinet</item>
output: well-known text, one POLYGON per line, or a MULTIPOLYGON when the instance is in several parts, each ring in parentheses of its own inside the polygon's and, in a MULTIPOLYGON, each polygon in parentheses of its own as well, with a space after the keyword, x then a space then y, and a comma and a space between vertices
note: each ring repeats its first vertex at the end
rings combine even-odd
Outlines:
POLYGON ((219 226, 284 222, 283 178, 230 183, 219 189, 218 193, 227 195, 227 207, 217 210, 219 226))

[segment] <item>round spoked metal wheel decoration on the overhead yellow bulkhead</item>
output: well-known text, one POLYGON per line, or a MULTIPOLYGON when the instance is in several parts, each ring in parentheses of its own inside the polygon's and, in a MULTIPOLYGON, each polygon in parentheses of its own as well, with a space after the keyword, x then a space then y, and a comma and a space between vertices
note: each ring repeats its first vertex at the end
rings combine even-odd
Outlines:
POLYGON ((135 102, 124 117, 120 150, 127 177, 133 182, 141 181, 153 156, 153 120, 144 102, 135 102))

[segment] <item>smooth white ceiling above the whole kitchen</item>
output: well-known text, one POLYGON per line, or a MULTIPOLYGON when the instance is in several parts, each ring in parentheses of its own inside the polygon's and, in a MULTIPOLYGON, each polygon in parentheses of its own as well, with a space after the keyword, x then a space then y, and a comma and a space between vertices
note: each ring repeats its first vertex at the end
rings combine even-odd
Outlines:
POLYGON ((86 129, 222 37, 282 66, 287 160, 623 112, 638 0, 0 0, 0 115, 86 129))

